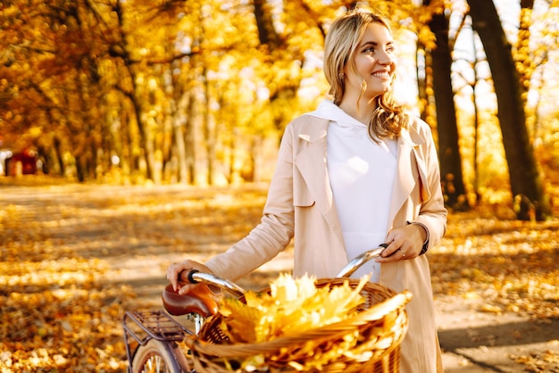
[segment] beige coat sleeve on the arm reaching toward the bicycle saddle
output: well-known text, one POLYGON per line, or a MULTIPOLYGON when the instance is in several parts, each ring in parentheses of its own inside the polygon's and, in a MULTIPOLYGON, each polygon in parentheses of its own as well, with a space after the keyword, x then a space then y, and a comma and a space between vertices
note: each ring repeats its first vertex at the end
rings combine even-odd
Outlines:
POLYGON ((205 265, 213 273, 237 280, 283 251, 294 235, 293 128, 289 124, 281 138, 276 170, 271 178, 263 218, 250 233, 227 252, 205 265))

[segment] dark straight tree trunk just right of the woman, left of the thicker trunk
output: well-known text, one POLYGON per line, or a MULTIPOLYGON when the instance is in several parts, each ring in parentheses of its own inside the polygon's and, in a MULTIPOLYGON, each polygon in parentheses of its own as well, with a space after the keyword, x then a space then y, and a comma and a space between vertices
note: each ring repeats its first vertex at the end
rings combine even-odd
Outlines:
POLYGON ((443 194, 449 207, 463 210, 468 208, 468 200, 463 184, 454 92, 450 79, 452 56, 448 44, 448 19, 444 13, 434 14, 429 26, 437 37, 437 48, 430 51, 430 54, 437 108, 438 157, 443 194))

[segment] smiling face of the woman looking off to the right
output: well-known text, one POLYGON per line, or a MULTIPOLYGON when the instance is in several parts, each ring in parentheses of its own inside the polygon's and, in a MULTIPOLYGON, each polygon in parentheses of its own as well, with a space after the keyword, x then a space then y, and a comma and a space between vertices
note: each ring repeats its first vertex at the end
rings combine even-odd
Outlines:
POLYGON ((362 82, 367 85, 363 98, 371 100, 388 91, 396 70, 394 39, 382 24, 373 22, 367 26, 354 55, 355 71, 347 63, 346 94, 359 95, 362 82))

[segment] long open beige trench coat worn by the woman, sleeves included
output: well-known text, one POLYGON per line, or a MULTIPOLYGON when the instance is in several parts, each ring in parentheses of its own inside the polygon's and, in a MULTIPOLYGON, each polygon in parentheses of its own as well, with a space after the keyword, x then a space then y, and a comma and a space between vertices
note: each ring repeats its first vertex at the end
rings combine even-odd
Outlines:
MULTIPOLYGON (((285 130, 271 179, 263 219, 248 236, 205 264, 214 273, 236 280, 295 245, 294 276, 335 277, 347 258, 326 166, 328 120, 296 118, 285 130)), ((446 231, 438 157, 429 126, 412 119, 398 138, 389 220, 391 228, 419 222, 429 229, 429 246, 446 231)), ((374 211, 371 211, 374 213, 374 211)), ((388 234, 388 232, 387 232, 388 234)), ((369 248, 365 248, 369 249, 369 248)), ((380 283, 413 300, 406 307, 409 328, 402 344, 401 372, 442 371, 427 257, 382 264, 380 283)))

